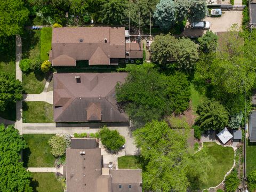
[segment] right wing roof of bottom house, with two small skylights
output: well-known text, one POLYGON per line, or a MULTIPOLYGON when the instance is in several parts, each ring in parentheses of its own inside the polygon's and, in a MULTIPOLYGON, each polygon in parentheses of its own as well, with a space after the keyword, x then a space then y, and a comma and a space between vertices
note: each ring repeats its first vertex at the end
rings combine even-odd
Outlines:
POLYGON ((142 191, 141 170, 110 170, 109 174, 112 175, 112 192, 142 191), (119 185, 121 185, 121 188, 119 188, 119 185))

